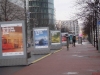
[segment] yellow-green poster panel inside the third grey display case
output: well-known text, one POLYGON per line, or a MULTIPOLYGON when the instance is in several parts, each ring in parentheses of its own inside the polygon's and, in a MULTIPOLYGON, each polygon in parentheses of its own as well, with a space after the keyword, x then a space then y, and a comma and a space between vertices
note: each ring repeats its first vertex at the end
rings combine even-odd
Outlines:
POLYGON ((60 44, 60 32, 53 31, 51 33, 51 44, 60 44))

